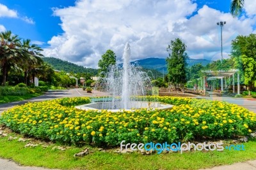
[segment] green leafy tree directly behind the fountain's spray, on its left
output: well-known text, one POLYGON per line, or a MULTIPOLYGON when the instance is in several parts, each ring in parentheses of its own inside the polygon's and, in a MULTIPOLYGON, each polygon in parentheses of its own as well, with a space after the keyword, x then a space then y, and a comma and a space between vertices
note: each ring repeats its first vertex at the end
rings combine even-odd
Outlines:
POLYGON ((108 73, 109 66, 116 64, 116 54, 112 50, 107 50, 101 56, 101 59, 98 62, 99 66, 99 76, 104 77, 108 73))

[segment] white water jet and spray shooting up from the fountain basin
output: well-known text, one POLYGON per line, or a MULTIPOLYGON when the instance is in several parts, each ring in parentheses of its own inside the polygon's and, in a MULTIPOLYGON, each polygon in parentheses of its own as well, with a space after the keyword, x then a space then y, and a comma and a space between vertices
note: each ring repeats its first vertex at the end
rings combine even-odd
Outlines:
POLYGON ((123 67, 118 64, 109 67, 108 73, 105 73, 106 77, 96 85, 96 89, 109 92, 112 96, 110 101, 108 99, 108 102, 104 103, 104 108, 112 110, 134 108, 131 96, 145 96, 147 90, 151 90, 150 77, 141 71, 141 67, 130 64, 130 58, 130 45, 126 43, 122 57, 123 67))

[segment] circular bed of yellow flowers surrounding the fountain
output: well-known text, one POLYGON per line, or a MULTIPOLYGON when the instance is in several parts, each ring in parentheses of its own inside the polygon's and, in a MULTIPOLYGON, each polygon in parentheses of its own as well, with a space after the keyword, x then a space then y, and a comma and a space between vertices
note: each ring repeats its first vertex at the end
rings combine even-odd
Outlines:
POLYGON ((246 136, 256 116, 236 104, 183 97, 138 97, 173 104, 171 110, 77 110, 89 97, 27 103, 5 111, 0 122, 15 132, 69 144, 118 146, 127 143, 173 143, 246 136))

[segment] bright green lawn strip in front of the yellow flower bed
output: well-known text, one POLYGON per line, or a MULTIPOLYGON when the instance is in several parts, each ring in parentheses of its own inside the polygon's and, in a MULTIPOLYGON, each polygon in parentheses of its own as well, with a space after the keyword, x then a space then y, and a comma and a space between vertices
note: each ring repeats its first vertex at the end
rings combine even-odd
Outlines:
MULTIPOLYGON (((10 133, 11 136, 19 134, 10 133)), ((42 141, 35 141, 40 143, 42 141)), ((41 166, 58 169, 200 169, 213 166, 233 164, 256 159, 256 141, 243 143, 245 151, 224 150, 223 152, 187 152, 141 155, 140 153, 95 152, 84 157, 75 158, 74 153, 83 148, 71 146, 65 151, 52 150, 57 144, 51 143, 47 148, 36 146, 24 148, 28 142, 17 139, 8 141, 8 137, 0 138, 0 157, 12 159, 23 166, 41 166)), ((45 144, 45 142, 43 142, 45 144)))

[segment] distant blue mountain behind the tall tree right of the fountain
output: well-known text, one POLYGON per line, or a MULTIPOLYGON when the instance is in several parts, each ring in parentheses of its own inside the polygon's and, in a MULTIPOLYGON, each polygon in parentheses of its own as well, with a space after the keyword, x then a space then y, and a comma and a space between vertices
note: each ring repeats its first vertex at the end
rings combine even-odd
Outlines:
MULTIPOLYGON (((201 63, 203 66, 206 66, 210 62, 211 62, 210 60, 205 60, 205 59, 189 59, 188 67, 191 67, 198 63, 201 63)), ((147 58, 147 59, 136 60, 131 63, 138 64, 139 66, 147 69, 156 69, 160 73, 163 73, 163 72, 164 74, 167 73, 166 59, 147 58)))

